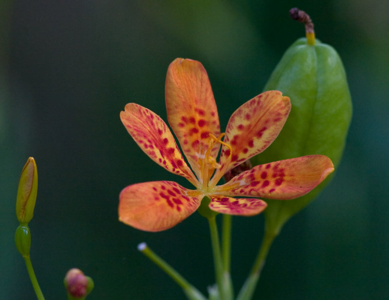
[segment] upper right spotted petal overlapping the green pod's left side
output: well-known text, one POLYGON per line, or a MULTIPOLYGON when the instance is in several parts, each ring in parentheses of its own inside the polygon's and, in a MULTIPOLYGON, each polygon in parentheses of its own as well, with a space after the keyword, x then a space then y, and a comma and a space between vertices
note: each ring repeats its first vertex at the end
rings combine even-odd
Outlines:
MULTIPOLYGON (((289 97, 279 91, 268 91, 252 98, 230 117, 226 128, 220 164, 231 162, 226 171, 265 150, 283 128, 290 111, 289 97)), ((222 168, 223 169, 223 168, 222 168)))

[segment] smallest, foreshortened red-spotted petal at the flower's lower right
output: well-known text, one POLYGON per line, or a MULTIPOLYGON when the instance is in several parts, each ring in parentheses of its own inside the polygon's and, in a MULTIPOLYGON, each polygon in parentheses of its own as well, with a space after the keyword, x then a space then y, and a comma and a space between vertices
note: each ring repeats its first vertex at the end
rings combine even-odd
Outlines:
POLYGON ((227 215, 254 216, 266 208, 265 201, 256 198, 235 199, 226 196, 211 195, 209 207, 227 215))

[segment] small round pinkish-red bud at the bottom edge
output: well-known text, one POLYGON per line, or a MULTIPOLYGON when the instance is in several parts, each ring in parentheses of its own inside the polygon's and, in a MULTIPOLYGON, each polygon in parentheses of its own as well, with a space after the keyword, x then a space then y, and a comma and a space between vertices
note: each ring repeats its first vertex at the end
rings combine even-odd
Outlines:
POLYGON ((94 287, 93 280, 77 268, 72 268, 66 273, 64 284, 69 299, 85 299, 94 287))

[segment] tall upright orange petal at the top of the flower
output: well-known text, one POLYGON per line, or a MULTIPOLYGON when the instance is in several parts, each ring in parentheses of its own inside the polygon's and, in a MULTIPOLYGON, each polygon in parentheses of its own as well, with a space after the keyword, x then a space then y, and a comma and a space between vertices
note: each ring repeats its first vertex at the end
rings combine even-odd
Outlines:
MULTIPOLYGON (((169 124, 197 178, 201 178, 199 158, 209 147, 209 133, 216 137, 220 134, 216 103, 203 65, 191 59, 175 59, 167 71, 165 99, 169 124)), ((217 143, 213 158, 219 149, 217 143)))

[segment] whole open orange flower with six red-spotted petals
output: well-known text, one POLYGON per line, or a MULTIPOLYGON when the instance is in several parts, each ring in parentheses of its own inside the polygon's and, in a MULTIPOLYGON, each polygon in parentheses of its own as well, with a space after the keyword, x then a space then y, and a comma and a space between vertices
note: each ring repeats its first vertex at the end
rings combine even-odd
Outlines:
POLYGON ((255 166, 217 186, 226 172, 273 142, 289 114, 289 98, 278 91, 259 94, 238 108, 231 115, 225 133, 220 133, 207 72, 200 62, 182 58, 175 59, 168 68, 165 98, 169 124, 192 169, 157 114, 129 103, 120 118, 152 160, 185 177, 196 189, 172 181, 125 187, 119 196, 119 220, 125 224, 146 231, 171 228, 195 212, 205 196, 211 199, 209 208, 213 211, 256 215, 265 209, 266 203, 251 197, 297 198, 334 170, 328 157, 309 155, 255 166))

